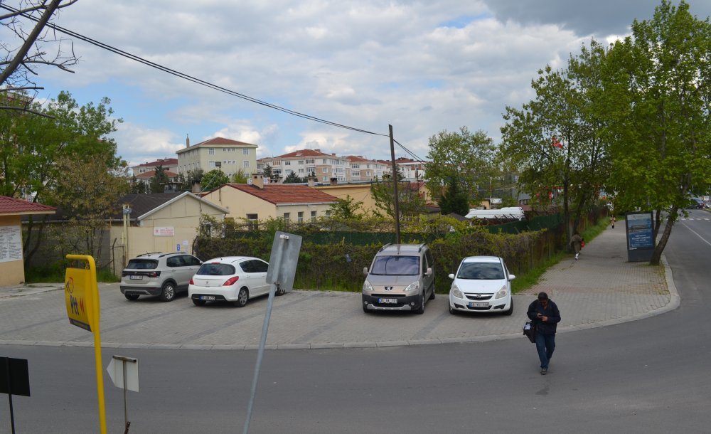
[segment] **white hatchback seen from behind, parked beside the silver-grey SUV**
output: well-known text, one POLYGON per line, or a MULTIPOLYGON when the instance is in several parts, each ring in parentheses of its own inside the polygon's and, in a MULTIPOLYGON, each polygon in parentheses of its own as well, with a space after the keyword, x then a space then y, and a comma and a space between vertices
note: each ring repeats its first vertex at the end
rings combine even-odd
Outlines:
MULTIPOLYGON (((269 263, 249 256, 225 256, 206 260, 188 285, 188 297, 196 306, 205 302, 232 302, 243 307, 250 298, 269 294, 269 263)), ((284 290, 277 288, 277 295, 284 290)))

